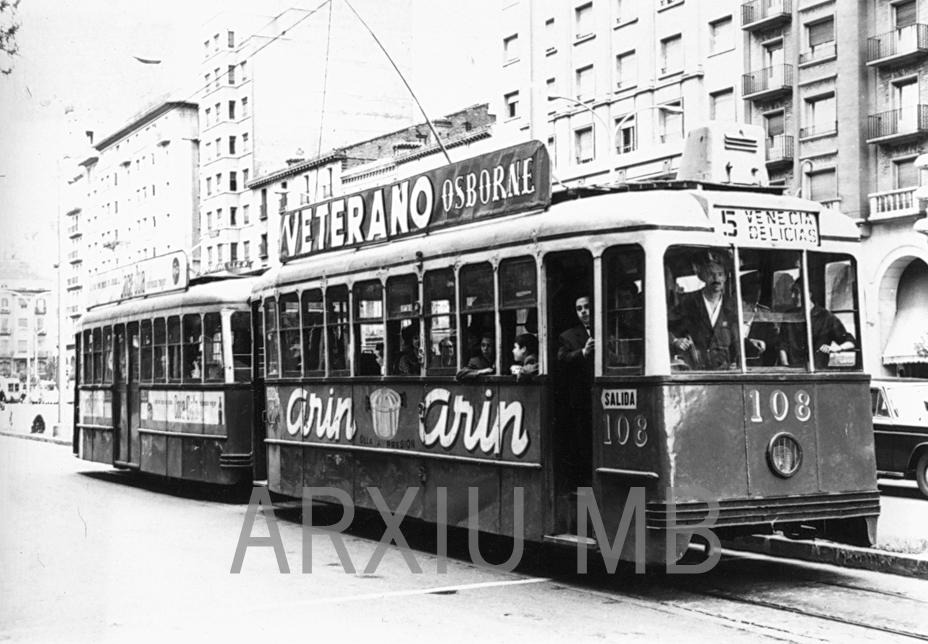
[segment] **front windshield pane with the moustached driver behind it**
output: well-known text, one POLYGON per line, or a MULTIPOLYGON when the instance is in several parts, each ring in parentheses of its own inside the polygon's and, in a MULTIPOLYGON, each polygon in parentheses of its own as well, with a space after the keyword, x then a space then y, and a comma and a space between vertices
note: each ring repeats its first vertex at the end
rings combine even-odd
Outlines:
POLYGON ((671 369, 727 371, 741 366, 732 253, 674 246, 664 258, 671 369))

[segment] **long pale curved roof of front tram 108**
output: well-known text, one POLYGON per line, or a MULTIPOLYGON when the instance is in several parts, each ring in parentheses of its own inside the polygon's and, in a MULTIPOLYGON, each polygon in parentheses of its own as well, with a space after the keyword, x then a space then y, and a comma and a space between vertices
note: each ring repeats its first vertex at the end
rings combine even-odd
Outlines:
MULTIPOLYGON (((546 210, 482 220, 427 234, 379 244, 327 251, 297 258, 257 279, 256 294, 288 284, 335 277, 364 270, 389 269, 417 260, 452 257, 476 250, 492 250, 535 240, 602 232, 667 231, 709 233, 715 230, 709 217, 714 207, 750 210, 795 210, 819 214, 819 233, 829 241, 857 242, 860 233, 849 217, 822 208, 821 204, 769 191, 712 189, 711 184, 687 182, 641 191, 615 191, 560 201, 546 210), (667 189, 670 188, 670 189, 667 189)), ((694 243, 706 243, 705 239, 694 243)))

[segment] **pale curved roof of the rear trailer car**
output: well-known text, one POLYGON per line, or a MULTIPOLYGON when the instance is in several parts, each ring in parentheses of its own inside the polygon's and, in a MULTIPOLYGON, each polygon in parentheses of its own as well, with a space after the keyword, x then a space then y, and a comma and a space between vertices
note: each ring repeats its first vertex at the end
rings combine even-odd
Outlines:
POLYGON ((247 308, 248 296, 255 282, 254 277, 215 280, 194 284, 187 290, 176 293, 105 304, 81 316, 80 325, 85 327, 111 324, 128 319, 152 317, 178 309, 215 308, 218 310, 222 306, 232 306, 244 310, 247 308))

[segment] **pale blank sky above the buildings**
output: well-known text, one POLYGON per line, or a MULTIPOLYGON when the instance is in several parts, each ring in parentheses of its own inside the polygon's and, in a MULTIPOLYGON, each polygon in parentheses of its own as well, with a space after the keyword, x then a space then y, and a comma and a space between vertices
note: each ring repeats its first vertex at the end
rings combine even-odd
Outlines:
MULTIPOLYGON (((85 130, 99 141, 159 97, 189 87, 199 72, 200 25, 221 11, 276 15, 322 2, 22 0, 19 55, 13 72, 0 76, 0 259, 54 276, 58 176, 70 167, 61 160, 86 156, 85 130)), ((406 3, 414 41, 403 72, 430 118, 490 102, 499 46, 488 16, 499 0, 406 3)))

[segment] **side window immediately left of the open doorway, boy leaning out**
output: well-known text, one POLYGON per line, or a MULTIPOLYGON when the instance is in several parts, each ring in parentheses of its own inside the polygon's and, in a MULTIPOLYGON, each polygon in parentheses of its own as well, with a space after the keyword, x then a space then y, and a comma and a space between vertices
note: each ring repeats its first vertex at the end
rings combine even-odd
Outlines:
MULTIPOLYGON (((538 277, 535 260, 526 257, 502 262, 499 267, 499 294, 502 334, 499 358, 502 373, 507 374, 516 364, 513 353, 516 338, 530 347, 538 344, 538 277), (533 339, 520 337, 526 335, 533 336, 533 339)), ((531 362, 531 357, 526 358, 531 362)), ((537 364, 537 353, 534 359, 537 364)), ((519 362, 520 366, 524 366, 525 359, 519 362)))

